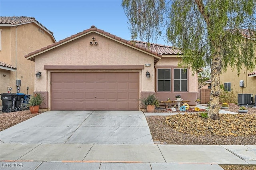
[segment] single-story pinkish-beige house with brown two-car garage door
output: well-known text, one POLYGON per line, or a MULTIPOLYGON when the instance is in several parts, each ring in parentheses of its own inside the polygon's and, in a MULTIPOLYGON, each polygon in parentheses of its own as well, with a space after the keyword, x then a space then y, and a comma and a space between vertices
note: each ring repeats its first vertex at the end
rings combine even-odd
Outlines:
POLYGON ((159 100, 198 97, 197 73, 179 68, 170 46, 130 42, 92 26, 25 55, 35 62, 49 110, 139 110, 139 99, 155 93, 159 100), (146 77, 146 73, 150 77, 146 77))

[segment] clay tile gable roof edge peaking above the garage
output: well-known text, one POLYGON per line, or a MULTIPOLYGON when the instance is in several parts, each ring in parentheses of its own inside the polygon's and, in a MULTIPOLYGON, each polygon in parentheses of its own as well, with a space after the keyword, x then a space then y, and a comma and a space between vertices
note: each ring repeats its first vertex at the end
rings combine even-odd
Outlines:
MULTIPOLYGON (((143 51, 147 51, 148 53, 151 53, 151 54, 153 54, 153 55, 156 55, 157 57, 162 57, 162 54, 161 54, 161 53, 158 53, 157 51, 154 51, 154 50, 147 50, 148 47, 145 48, 144 46, 137 45, 136 43, 131 43, 131 42, 129 42, 129 41, 125 40, 125 39, 122 39, 122 38, 120 38, 120 37, 118 37, 118 36, 115 36, 115 35, 113 35, 113 34, 110 34, 110 33, 108 33, 108 32, 105 32, 105 31, 103 31, 103 30, 100 30, 100 29, 96 28, 95 26, 91 26, 90 29, 84 30, 84 31, 83 31, 83 34, 86 34, 86 33, 88 33, 88 32, 98 32, 98 33, 100 33, 100 34, 104 34, 105 36, 108 36, 108 37, 110 37, 110 38, 113 38, 113 39, 115 39, 115 40, 118 40, 118 41, 120 41, 120 42, 122 42, 122 43, 126 43, 126 44, 132 45, 132 46, 134 46, 134 47, 136 47, 136 48, 138 48, 138 49, 142 49, 143 51)), ((70 40, 70 39, 74 39, 74 38, 76 38, 76 37, 78 37, 78 36, 80 36, 80 35, 81 35, 81 32, 80 32, 80 33, 77 33, 77 34, 74 34, 74 35, 72 35, 72 36, 70 36, 70 37, 68 37, 68 38, 65 38, 64 40, 60 40, 59 42, 53 43, 52 45, 48 45, 47 48, 46 48, 46 47, 43 47, 43 48, 41 48, 41 49, 38 49, 38 50, 33 51, 33 52, 31 52, 31 53, 28 53, 27 55, 25 55, 25 58, 27 58, 27 57, 29 57, 29 56, 31 56, 31 55, 33 55, 33 54, 42 52, 42 51, 44 51, 44 50, 46 50, 46 49, 49 49, 49 48, 51 48, 51 47, 54 47, 54 46, 56 46, 56 45, 59 45, 59 44, 61 44, 61 43, 64 43, 64 42, 66 42, 66 41, 68 41, 68 40, 70 40)), ((163 45, 162 45, 162 46, 163 46, 163 45)), ((168 47, 168 46, 165 46, 165 47, 168 47)), ((175 50, 174 50, 174 51, 175 51, 175 50)), ((155 58, 155 61, 156 61, 156 62, 157 62, 158 60, 159 60, 158 58, 157 58, 157 59, 155 58)))

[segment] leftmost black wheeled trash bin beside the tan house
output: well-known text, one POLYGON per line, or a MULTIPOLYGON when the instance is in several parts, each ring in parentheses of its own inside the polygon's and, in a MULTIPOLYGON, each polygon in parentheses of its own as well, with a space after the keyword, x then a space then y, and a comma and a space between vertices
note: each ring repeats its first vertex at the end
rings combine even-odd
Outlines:
POLYGON ((15 107, 16 103, 16 93, 2 93, 1 99, 2 99, 2 105, 3 105, 3 112, 11 112, 11 111, 17 111, 18 108, 15 107))

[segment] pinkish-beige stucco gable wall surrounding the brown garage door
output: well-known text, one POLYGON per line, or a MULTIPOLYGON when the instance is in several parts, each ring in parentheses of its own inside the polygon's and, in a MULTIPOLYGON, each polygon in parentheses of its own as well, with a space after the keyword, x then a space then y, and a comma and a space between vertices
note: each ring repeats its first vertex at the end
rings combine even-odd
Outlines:
POLYGON ((140 73, 140 92, 154 91, 154 56, 102 35, 90 33, 35 57, 35 69, 42 72, 41 79, 35 79, 35 91, 49 92, 50 108, 50 73, 56 72, 56 70, 45 70, 44 65, 144 65, 145 63, 150 63, 151 66, 144 67, 142 70, 93 71, 138 71, 140 73), (90 45, 92 37, 96 38, 97 45, 90 45), (150 79, 146 78, 146 71, 150 72, 150 79))

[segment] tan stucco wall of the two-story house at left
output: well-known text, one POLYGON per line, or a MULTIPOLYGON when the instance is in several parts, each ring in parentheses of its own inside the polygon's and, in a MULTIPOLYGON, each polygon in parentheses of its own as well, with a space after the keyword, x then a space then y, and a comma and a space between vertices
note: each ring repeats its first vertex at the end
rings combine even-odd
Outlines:
POLYGON ((43 34, 38 31, 38 28, 39 26, 34 23, 23 24, 18 27, 1 28, 2 51, 0 51, 0 60, 17 67, 17 70, 7 71, 6 77, 3 77, 2 71, 4 70, 1 69, 0 93, 7 93, 8 86, 13 88, 12 93, 16 93, 16 79, 21 80, 20 93, 27 94, 27 87, 29 87, 28 94, 34 92, 34 78, 36 74, 34 62, 25 59, 24 55, 54 43, 50 34, 46 31, 43 34))

